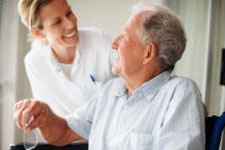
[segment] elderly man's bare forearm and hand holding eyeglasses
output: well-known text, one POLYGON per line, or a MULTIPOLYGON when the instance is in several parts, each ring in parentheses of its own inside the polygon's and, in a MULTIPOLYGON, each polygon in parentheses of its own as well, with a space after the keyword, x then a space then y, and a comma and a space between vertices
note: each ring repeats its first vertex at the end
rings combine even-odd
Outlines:
POLYGON ((31 131, 39 128, 50 144, 60 146, 82 139, 68 127, 63 118, 54 114, 47 104, 40 101, 19 101, 15 105, 14 120, 20 129, 31 131))

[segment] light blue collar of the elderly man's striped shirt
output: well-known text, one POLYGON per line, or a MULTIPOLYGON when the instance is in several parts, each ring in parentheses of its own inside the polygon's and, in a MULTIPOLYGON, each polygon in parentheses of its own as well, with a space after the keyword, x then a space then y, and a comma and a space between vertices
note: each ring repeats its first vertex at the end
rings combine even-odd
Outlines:
MULTIPOLYGON (((142 94, 146 100, 151 100, 154 94, 159 91, 159 89, 170 79, 171 72, 164 71, 153 79, 143 83, 131 97, 136 97, 142 94)), ((118 88, 116 90, 115 96, 123 97, 126 96, 127 90, 125 86, 125 81, 120 78, 118 88)), ((133 98, 132 98, 133 99, 133 98)))

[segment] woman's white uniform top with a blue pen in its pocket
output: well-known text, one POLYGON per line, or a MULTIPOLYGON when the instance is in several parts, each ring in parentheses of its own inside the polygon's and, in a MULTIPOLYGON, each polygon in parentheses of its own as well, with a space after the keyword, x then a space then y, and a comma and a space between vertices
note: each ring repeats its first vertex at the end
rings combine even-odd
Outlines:
POLYGON ((64 65, 56 60, 49 46, 33 43, 24 60, 33 97, 48 103, 60 116, 83 106, 96 92, 96 83, 114 77, 111 38, 103 31, 80 29, 75 51, 74 63, 64 65))

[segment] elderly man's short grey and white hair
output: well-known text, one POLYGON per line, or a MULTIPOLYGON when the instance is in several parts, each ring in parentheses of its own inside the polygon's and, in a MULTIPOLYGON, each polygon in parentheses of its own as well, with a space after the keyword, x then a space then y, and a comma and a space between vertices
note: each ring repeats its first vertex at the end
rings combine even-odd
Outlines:
POLYGON ((153 42, 156 45, 161 69, 173 70, 186 46, 186 35, 180 20, 160 5, 137 3, 133 6, 134 16, 143 11, 150 13, 138 17, 141 24, 136 32, 143 44, 153 42))

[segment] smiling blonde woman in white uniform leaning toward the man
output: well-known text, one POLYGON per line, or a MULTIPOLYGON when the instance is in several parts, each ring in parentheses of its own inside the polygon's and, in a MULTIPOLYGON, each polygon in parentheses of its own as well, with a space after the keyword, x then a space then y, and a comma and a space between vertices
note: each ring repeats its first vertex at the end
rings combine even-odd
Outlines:
POLYGON ((18 10, 34 39, 25 67, 35 99, 65 116, 113 77, 110 38, 96 28, 78 30, 66 0, 20 0, 18 10))

